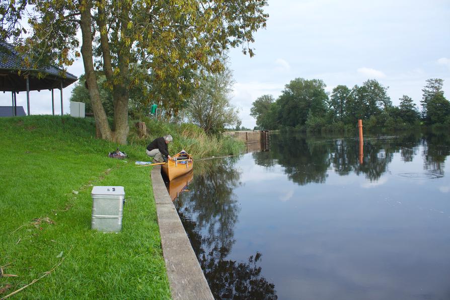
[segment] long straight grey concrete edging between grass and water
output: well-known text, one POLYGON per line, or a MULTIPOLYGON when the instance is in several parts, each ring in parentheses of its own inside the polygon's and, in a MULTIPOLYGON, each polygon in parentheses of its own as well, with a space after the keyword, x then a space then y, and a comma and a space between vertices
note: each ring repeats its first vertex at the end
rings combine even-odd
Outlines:
POLYGON ((164 261, 173 299, 214 299, 161 176, 151 172, 164 261))

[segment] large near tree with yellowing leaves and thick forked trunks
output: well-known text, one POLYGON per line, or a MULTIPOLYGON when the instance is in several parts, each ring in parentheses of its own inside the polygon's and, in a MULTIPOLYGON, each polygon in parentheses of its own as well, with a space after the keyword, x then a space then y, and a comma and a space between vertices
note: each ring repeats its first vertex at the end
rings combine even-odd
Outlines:
MULTIPOLYGON (((8 24, 0 33, 23 42, 20 50, 33 63, 67 66, 80 56, 80 30, 98 132, 104 139, 125 143, 130 88, 144 80, 150 86, 158 83, 154 96, 167 107, 171 101, 181 102, 182 97, 164 97, 182 95, 186 86, 195 84, 192 70, 221 70, 218 57, 230 46, 242 46, 244 53, 253 55, 249 43, 254 32, 266 25, 266 5, 266 0, 20 0, 0 6, 1 21, 8 24), (27 5, 32 34, 20 40, 16 21, 27 5), (130 63, 139 63, 142 71, 130 71, 130 63), (96 69, 104 71, 112 90, 114 131, 101 102, 96 69)), ((172 111, 181 106, 174 105, 172 111)))

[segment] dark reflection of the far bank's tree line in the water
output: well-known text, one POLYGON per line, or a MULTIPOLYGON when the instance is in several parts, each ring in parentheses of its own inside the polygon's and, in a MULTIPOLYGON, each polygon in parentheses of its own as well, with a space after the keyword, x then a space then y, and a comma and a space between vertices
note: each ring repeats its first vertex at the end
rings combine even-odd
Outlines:
MULTIPOLYGON (((330 166, 339 175, 354 172, 376 181, 387 171, 395 153, 400 153, 403 161, 411 162, 421 138, 420 132, 365 138, 363 164, 360 164, 357 138, 280 133, 272 134, 270 152, 254 153, 253 157, 260 166, 281 165, 288 178, 301 185, 324 182, 330 166)), ((442 174, 443 162, 449 155, 448 139, 448 134, 426 137, 423 142, 426 170, 442 174)))

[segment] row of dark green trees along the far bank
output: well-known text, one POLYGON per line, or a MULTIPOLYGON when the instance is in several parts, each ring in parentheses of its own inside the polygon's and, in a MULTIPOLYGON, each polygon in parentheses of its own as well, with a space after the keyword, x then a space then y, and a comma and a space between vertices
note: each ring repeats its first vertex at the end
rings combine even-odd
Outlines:
POLYGON ((250 115, 256 119, 256 129, 270 130, 347 131, 354 129, 358 119, 364 120, 367 129, 408 129, 422 124, 449 127, 450 102, 442 85, 442 79, 426 81, 419 111, 407 95, 394 106, 388 88, 377 80, 353 88, 339 85, 327 93, 322 80, 296 78, 285 85, 278 99, 272 95, 256 99, 250 115))

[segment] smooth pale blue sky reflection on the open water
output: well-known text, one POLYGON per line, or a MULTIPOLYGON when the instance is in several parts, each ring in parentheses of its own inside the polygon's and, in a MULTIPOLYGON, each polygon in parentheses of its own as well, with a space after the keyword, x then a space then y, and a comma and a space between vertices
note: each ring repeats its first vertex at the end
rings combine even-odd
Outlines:
POLYGON ((448 298, 450 168, 441 164, 441 178, 399 176, 428 172, 424 147, 414 149, 411 162, 394 153, 378 180, 329 168, 324 183, 305 185, 245 155, 227 259, 262 253, 280 299, 448 298))

